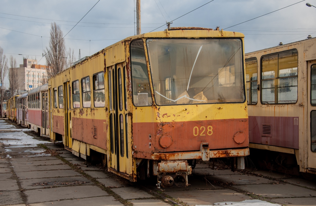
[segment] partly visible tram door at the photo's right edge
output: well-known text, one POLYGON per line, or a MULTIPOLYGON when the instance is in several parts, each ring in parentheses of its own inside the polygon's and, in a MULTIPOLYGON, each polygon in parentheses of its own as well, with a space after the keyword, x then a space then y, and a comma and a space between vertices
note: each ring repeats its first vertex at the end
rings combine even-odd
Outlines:
POLYGON ((316 60, 308 61, 307 167, 316 169, 316 60))

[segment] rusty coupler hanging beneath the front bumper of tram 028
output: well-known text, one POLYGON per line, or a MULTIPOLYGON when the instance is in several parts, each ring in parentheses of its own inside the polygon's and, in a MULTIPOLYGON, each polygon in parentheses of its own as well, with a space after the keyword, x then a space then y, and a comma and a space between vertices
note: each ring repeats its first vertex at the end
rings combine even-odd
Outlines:
POLYGON ((158 183, 157 188, 187 187, 188 175, 192 173, 192 168, 187 160, 167 160, 158 163, 158 183))

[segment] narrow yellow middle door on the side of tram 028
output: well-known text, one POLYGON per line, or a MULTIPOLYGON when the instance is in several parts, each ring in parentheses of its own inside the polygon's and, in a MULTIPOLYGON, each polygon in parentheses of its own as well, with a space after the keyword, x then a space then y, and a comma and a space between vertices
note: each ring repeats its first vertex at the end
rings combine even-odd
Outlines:
POLYGON ((71 133, 71 87, 70 82, 64 83, 64 109, 65 109, 65 147, 72 148, 72 133, 71 133))

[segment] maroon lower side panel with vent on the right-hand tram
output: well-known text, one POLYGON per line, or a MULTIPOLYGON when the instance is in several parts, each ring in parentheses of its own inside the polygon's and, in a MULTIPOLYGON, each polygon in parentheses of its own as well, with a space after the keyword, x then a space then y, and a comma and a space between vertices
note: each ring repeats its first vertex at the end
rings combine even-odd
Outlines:
POLYGON ((298 117, 249 116, 249 142, 298 149, 298 120, 298 117))

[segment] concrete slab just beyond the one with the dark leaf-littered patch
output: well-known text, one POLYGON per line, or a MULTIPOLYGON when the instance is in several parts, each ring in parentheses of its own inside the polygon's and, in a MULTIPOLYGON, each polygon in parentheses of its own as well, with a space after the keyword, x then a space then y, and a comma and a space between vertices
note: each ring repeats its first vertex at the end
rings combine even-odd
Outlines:
POLYGON ((33 172, 16 172, 19 179, 34 178, 53 178, 53 177, 70 177, 81 176, 80 173, 73 170, 49 170, 49 171, 33 171, 33 172))

